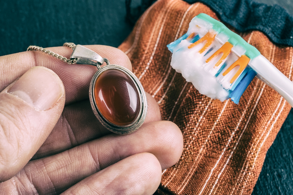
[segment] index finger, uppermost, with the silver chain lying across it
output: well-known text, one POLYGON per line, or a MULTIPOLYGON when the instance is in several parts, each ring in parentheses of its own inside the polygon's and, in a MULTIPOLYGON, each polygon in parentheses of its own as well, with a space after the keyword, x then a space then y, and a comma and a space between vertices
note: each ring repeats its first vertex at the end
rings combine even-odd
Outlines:
MULTIPOLYGON (((131 62, 121 50, 106 45, 86 45, 100 56, 107 58, 111 64, 121 65, 132 70, 131 62)), ((47 48, 48 50, 69 59, 72 50, 67 47, 47 48)), ((92 65, 68 65, 48 54, 39 51, 26 51, 0 57, 0 91, 23 75, 34 66, 44 66, 53 70, 62 80, 65 87, 66 102, 79 101, 88 98, 88 88, 97 71, 92 65)))

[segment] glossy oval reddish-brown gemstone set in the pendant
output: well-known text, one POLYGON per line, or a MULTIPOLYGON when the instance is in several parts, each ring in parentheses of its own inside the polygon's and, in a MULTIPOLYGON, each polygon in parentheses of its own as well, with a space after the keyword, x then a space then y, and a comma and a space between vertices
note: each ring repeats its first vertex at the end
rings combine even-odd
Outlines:
POLYGON ((139 114, 140 99, 135 83, 120 70, 110 69, 100 74, 94 95, 101 114, 115 125, 129 125, 139 114))

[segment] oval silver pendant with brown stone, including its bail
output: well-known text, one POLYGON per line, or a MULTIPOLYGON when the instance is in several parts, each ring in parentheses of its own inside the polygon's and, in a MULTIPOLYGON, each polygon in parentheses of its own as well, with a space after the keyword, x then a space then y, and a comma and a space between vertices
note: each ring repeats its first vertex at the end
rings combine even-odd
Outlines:
POLYGON ((147 116, 147 96, 130 70, 110 65, 108 59, 82 45, 75 46, 70 59, 98 67, 91 79, 89 99, 103 126, 118 134, 129 134, 142 126, 147 116), (107 65, 101 67, 104 62, 107 65))

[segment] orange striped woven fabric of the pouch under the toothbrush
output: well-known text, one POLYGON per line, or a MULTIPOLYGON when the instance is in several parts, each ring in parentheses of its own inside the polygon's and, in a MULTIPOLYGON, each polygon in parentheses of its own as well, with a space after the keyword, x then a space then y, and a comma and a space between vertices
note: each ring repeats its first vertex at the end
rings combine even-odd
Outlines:
MULTIPOLYGON (((186 33, 199 13, 219 20, 199 2, 156 1, 119 47, 129 56, 144 89, 158 102, 162 119, 173 121, 183 133, 183 154, 162 172, 156 193, 251 194, 291 106, 257 78, 239 105, 213 100, 171 68, 166 45, 186 33)), ((292 47, 275 45, 259 31, 238 34, 292 80, 292 47)))

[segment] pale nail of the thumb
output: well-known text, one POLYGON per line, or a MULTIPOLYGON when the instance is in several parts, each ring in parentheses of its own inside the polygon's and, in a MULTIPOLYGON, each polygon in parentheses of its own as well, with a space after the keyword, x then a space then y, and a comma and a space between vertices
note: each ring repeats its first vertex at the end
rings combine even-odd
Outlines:
POLYGON ((48 110, 64 95, 61 79, 52 70, 37 66, 25 72, 8 93, 38 110, 48 110))

